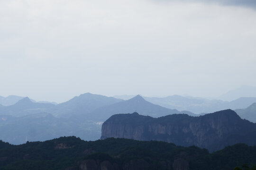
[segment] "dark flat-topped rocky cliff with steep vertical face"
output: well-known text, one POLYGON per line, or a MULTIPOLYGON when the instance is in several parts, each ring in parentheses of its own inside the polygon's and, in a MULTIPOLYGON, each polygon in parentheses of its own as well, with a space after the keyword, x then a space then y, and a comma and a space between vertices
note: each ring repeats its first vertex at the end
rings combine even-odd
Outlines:
POLYGON ((233 110, 222 110, 200 117, 174 114, 160 118, 138 113, 113 115, 101 128, 101 138, 119 137, 135 140, 157 140, 177 145, 196 145, 210 152, 225 146, 256 144, 256 124, 233 110))

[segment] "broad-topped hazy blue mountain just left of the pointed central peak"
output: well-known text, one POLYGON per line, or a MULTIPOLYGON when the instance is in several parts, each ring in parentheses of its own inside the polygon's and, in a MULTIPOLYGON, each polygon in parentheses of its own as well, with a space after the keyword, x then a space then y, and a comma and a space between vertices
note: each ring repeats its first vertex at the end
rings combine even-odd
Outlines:
POLYGON ((74 114, 87 114, 102 106, 122 102, 121 99, 107 97, 99 94, 84 93, 73 99, 56 105, 54 115, 57 117, 70 117, 74 114))

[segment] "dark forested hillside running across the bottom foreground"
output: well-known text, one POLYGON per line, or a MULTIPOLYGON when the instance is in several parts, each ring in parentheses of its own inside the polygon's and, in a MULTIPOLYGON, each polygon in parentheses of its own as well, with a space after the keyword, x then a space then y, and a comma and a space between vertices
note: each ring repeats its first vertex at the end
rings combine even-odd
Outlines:
POLYGON ((1 170, 233 170, 256 162, 256 146, 236 144, 215 153, 195 146, 108 138, 60 137, 10 145, 0 141, 1 170))

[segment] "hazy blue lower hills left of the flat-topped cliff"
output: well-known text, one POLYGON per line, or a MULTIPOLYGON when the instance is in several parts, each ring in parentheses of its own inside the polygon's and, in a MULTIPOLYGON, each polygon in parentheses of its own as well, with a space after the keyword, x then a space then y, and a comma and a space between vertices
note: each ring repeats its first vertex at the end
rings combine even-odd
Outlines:
POLYGON ((22 117, 0 115, 0 140, 11 144, 45 141, 60 136, 97 140, 101 137, 101 124, 87 120, 56 118, 50 113, 22 117))

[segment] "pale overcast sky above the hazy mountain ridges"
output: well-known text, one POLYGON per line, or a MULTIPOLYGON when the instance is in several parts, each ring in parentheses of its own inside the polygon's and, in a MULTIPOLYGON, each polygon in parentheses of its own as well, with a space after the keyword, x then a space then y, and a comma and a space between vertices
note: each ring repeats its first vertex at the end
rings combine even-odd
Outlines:
POLYGON ((255 0, 0 0, 0 96, 256 86, 255 0))

